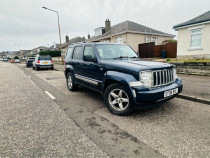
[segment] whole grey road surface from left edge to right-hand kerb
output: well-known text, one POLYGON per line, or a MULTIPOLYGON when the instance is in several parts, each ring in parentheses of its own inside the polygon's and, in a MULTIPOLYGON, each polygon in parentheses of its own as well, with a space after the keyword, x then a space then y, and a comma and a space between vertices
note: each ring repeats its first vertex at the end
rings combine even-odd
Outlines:
POLYGON ((122 117, 92 90, 70 92, 61 66, 0 62, 0 76, 0 157, 209 157, 207 104, 174 98, 122 117))

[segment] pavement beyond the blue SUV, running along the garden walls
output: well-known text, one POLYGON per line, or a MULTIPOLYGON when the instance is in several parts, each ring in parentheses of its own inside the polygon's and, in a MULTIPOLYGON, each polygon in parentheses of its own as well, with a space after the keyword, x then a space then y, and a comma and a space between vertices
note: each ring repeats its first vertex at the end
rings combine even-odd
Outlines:
MULTIPOLYGON (((64 65, 55 65, 55 69, 63 71, 64 65)), ((210 105, 210 76, 178 74, 182 79, 183 91, 177 97, 210 105)))

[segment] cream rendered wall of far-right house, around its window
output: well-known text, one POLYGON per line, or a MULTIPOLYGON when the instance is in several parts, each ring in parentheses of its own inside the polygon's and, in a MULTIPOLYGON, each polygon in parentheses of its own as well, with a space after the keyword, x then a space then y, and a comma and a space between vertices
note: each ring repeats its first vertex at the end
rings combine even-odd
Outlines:
POLYGON ((178 59, 210 59, 210 23, 178 29, 178 59), (201 28, 201 48, 190 48, 191 30, 201 28))

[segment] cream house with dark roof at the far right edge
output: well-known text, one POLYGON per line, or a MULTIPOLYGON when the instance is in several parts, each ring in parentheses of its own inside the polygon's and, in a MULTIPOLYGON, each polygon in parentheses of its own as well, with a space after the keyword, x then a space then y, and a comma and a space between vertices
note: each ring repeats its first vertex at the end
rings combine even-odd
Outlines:
POLYGON ((210 59, 210 11, 175 25, 178 59, 210 59))

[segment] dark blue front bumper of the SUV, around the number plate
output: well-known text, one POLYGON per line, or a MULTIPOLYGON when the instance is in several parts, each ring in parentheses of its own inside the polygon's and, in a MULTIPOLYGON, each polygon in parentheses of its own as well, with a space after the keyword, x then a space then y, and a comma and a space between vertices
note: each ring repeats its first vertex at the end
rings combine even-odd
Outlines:
POLYGON ((178 93, 182 92, 182 82, 181 79, 177 78, 176 81, 170 85, 166 85, 157 89, 142 89, 142 88, 132 88, 135 102, 135 108, 145 109, 152 106, 156 106, 159 103, 163 103, 174 98, 178 93), (178 88, 178 93, 169 97, 164 97, 164 92, 178 88))

